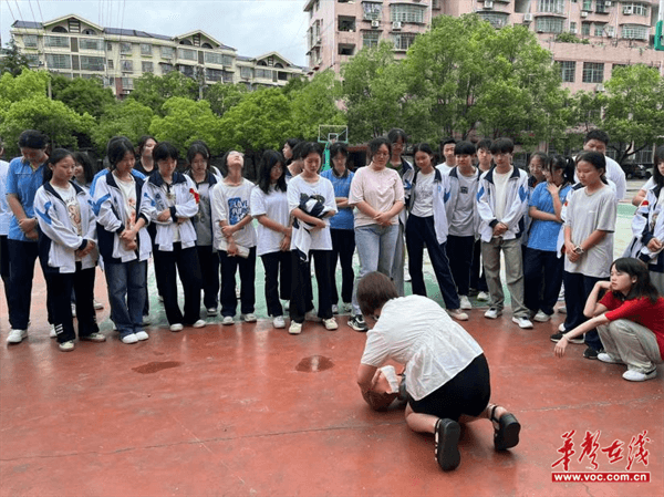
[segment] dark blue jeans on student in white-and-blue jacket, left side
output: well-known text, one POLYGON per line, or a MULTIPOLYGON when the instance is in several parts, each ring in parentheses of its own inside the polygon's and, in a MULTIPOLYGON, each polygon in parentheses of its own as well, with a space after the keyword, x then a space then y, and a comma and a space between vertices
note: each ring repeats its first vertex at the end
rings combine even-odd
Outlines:
POLYGON ((121 338, 142 330, 143 307, 147 299, 146 268, 144 260, 104 265, 111 319, 121 338))

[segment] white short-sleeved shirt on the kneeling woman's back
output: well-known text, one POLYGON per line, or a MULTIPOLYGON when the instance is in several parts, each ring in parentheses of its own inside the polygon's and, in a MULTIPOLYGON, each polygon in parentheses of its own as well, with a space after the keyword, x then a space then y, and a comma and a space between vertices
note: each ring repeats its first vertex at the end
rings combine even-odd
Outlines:
POLYGON ((422 296, 392 299, 366 333, 362 364, 393 360, 406 366, 406 390, 419 401, 454 379, 483 353, 440 306, 422 296))

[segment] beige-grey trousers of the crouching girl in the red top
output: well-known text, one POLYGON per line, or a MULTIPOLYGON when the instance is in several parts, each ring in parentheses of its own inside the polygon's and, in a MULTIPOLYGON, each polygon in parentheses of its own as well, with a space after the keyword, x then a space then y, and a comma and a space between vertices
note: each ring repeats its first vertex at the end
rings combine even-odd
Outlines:
POLYGON ((627 319, 598 327, 604 352, 625 363, 627 370, 649 373, 661 364, 662 354, 655 333, 627 319))

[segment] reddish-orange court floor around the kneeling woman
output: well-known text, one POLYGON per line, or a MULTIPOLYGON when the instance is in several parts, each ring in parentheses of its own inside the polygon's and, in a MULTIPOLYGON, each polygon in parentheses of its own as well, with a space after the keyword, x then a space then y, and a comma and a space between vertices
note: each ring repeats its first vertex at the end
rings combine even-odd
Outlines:
MULTIPOLYGON (((95 293, 105 302, 101 273, 95 293)), ((470 311, 492 401, 516 414, 521 442, 496 453, 490 423, 469 424, 460 466, 443 473, 433 437, 411 432, 403 410, 365 405, 365 335, 346 317, 298 336, 267 320, 153 327, 125 345, 106 304, 108 340, 63 353, 39 269, 33 296, 29 336, 11 346, 0 299, 0 496, 664 495, 664 369, 630 383, 623 366, 583 359, 583 345, 554 358, 560 314, 521 330, 509 309, 495 321, 470 311)))

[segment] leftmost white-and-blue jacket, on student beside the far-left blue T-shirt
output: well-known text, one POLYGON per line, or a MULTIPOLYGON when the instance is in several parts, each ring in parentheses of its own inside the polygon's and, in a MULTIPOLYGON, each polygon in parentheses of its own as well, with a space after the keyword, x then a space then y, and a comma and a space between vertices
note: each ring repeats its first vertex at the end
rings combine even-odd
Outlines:
MULTIPOLYGON (((44 272, 76 272, 76 250, 89 241, 96 241, 96 220, 92 199, 83 188, 72 183, 81 210, 81 231, 72 222, 66 205, 50 183, 44 183, 34 195, 34 213, 39 222, 39 259, 44 272)), ((82 269, 96 266, 97 249, 81 259, 82 269)))

